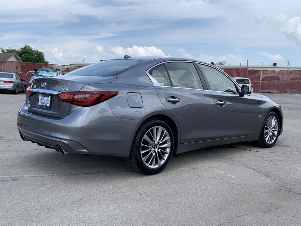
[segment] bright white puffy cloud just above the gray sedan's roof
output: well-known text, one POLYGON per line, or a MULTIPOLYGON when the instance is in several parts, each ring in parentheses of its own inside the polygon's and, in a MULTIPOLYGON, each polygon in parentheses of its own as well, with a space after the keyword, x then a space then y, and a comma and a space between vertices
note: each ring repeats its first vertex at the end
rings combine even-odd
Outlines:
POLYGON ((165 55, 163 50, 155 46, 133 46, 132 48, 123 48, 121 46, 110 47, 110 51, 116 56, 124 56, 124 54, 130 56, 169 56, 165 55))

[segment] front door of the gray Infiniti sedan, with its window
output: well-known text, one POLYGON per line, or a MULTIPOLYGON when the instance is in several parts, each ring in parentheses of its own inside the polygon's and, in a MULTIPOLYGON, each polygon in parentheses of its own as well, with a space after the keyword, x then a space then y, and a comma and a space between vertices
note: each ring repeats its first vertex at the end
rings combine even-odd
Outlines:
POLYGON ((215 119, 213 139, 248 136, 256 120, 256 100, 241 96, 238 86, 224 72, 198 63, 207 87, 213 94, 215 119))

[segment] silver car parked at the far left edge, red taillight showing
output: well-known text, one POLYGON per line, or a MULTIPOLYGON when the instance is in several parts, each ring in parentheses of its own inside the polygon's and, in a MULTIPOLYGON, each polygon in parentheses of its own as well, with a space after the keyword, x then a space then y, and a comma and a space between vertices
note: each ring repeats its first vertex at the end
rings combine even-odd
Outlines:
POLYGON ((0 90, 13 91, 14 94, 18 92, 25 93, 26 85, 25 79, 20 78, 15 73, 0 72, 0 90))

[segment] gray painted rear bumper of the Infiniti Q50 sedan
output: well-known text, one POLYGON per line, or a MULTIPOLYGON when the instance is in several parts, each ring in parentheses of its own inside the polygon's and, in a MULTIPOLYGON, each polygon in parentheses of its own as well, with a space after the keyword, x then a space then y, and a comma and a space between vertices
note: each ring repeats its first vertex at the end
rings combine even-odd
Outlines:
POLYGON ((17 127, 27 140, 69 153, 128 157, 139 120, 116 118, 105 101, 92 107, 75 107, 64 118, 32 113, 26 103, 18 112, 17 127))

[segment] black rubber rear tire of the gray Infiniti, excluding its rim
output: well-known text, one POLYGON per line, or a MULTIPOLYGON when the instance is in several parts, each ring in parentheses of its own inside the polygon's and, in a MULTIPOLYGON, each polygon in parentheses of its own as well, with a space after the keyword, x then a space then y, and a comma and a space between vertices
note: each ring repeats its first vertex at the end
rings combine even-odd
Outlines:
POLYGON ((169 163, 169 161, 172 157, 172 154, 173 154, 173 149, 174 149, 174 137, 173 137, 172 130, 167 125, 167 123, 162 121, 161 119, 157 119, 157 118, 150 119, 149 121, 143 122, 142 125, 137 130, 134 140, 133 140, 133 143, 132 143, 129 158, 127 158, 126 162, 133 170, 135 170, 139 173, 146 174, 146 175, 157 174, 157 173, 160 173, 162 170, 164 170, 164 168, 169 163), (145 133, 154 126, 161 126, 168 132, 169 137, 170 137, 170 150, 169 150, 169 154, 168 154, 165 162, 160 167, 151 169, 151 168, 147 167, 142 160, 141 153, 140 153, 140 151, 141 151, 140 146, 141 146, 141 143, 142 143, 145 133))

